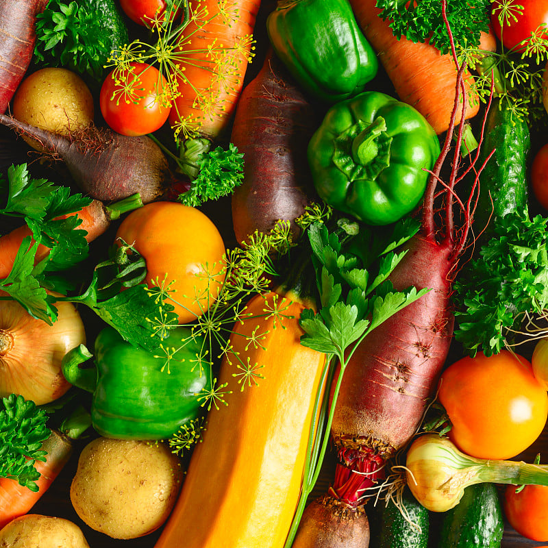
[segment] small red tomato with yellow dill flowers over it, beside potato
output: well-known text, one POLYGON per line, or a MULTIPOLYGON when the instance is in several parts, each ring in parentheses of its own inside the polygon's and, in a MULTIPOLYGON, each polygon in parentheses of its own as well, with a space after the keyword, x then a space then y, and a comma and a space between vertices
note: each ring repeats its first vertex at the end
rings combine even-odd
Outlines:
POLYGON ((131 69, 112 71, 101 86, 99 105, 105 122, 122 135, 136 137, 164 125, 171 106, 166 104, 168 84, 158 69, 129 63, 131 69))

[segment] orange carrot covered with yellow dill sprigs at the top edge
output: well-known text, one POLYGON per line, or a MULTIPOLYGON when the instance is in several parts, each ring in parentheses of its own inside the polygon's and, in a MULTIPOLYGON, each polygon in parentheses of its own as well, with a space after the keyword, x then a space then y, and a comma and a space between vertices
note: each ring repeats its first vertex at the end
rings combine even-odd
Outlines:
POLYGON ((191 17, 179 38, 184 72, 177 77, 179 87, 169 117, 175 129, 184 121, 214 139, 227 127, 242 90, 259 6, 260 0, 190 2, 190 14, 207 10, 201 17, 207 22, 196 23, 191 17), (213 48, 211 55, 208 48, 213 48))

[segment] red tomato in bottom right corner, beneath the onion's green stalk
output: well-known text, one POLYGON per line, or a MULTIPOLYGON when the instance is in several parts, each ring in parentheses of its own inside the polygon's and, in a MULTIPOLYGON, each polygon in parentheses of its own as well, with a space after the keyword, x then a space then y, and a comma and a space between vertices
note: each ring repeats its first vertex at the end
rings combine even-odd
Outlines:
POLYGON ((504 514, 510 525, 531 540, 548 540, 548 487, 527 485, 519 493, 509 485, 504 491, 504 514))

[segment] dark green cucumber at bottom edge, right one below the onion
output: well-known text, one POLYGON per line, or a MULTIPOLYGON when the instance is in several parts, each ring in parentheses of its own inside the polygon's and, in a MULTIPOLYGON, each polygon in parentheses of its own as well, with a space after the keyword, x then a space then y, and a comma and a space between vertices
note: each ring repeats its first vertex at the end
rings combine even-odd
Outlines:
POLYGON ((504 520, 493 484, 466 487, 455 508, 445 512, 438 548, 500 548, 504 520))

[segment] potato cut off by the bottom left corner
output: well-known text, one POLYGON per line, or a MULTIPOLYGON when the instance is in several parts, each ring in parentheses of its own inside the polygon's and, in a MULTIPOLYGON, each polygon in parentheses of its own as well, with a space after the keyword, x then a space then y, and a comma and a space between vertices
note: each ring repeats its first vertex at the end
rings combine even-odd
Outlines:
POLYGON ((0 548, 89 548, 82 530, 63 518, 27 514, 0 531, 0 548))

